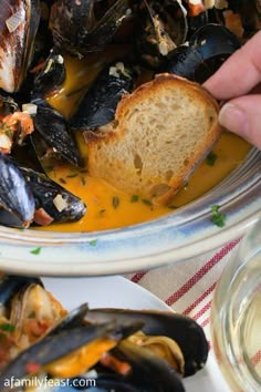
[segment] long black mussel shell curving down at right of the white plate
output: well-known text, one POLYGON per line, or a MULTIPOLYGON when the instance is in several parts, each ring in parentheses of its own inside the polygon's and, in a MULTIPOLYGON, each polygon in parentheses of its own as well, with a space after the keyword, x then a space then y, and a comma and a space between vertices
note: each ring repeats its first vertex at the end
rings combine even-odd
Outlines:
POLYGON ((91 309, 86 319, 91 322, 117 320, 122 324, 142 321, 146 334, 171 338, 184 354, 185 376, 196 373, 207 361, 208 342, 203 330, 186 316, 150 310, 91 309))

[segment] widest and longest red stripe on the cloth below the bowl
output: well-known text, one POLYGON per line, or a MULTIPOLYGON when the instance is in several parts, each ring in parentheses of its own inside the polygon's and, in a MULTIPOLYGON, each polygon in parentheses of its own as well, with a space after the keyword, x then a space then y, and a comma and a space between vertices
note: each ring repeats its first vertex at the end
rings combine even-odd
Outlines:
POLYGON ((180 297, 186 295, 211 268, 213 268, 222 258, 231 251, 240 239, 226 245, 221 250, 219 250, 209 261, 206 262, 186 283, 180 287, 176 292, 166 299, 168 306, 173 306, 180 297))

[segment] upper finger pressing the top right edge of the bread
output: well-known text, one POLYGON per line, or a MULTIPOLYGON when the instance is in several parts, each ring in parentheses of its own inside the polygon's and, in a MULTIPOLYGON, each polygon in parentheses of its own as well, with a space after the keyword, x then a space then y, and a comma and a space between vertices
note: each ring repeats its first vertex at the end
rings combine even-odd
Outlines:
POLYGON ((203 84, 218 100, 247 94, 261 81, 261 31, 234 52, 203 84))

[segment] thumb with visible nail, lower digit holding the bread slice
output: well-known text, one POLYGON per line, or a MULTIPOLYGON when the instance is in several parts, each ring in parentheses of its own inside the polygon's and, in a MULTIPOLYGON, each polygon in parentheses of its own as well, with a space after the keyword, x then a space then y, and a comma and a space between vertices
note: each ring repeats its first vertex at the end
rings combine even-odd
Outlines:
POLYGON ((227 102, 219 122, 261 149, 261 95, 246 95, 227 102))

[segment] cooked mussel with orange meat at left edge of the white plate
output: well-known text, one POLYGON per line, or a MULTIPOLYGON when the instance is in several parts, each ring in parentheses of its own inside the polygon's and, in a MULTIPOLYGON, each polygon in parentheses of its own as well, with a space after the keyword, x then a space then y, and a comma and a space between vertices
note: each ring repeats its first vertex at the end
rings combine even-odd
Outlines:
POLYGON ((38 278, 0 277, 0 373, 21 350, 66 314, 38 278))

